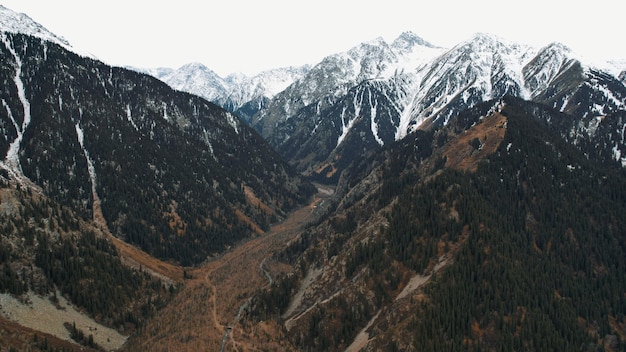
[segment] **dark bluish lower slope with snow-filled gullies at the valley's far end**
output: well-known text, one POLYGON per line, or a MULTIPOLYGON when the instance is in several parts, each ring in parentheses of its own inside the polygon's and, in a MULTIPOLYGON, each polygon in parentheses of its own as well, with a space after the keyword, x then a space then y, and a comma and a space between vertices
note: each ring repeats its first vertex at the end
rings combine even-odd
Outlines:
POLYGON ((354 160, 394 140, 399 123, 398 101, 410 99, 410 75, 370 80, 334 104, 300 109, 288 123, 273 129, 268 140, 296 169, 319 182, 336 182, 354 160), (275 136, 287 136, 284 140, 275 136))

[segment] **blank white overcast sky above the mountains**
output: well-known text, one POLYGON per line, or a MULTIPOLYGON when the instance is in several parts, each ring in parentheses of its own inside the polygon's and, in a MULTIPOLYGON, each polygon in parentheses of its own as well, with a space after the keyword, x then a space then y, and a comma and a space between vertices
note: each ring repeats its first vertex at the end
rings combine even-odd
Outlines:
POLYGON ((77 49, 120 66, 253 74, 317 63, 412 31, 452 47, 476 32, 543 46, 561 42, 591 59, 626 58, 623 0, 0 0, 77 49))

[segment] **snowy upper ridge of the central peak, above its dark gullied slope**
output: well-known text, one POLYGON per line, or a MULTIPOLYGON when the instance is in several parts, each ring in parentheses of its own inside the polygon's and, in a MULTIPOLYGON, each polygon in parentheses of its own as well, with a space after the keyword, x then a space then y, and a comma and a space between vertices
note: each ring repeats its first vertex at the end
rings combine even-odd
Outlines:
MULTIPOLYGON (((329 55, 313 66, 304 77, 277 94, 268 108, 255 116, 252 125, 265 137, 269 137, 274 133, 276 125, 286 123, 305 106, 320 103, 320 110, 324 111, 359 84, 414 75, 417 68, 444 50, 411 32, 405 32, 392 44, 376 38, 345 52, 329 55)), ((367 104, 369 101, 361 99, 361 103, 367 104)), ((403 110, 406 101, 394 101, 394 104, 403 110)), ((276 140, 284 141, 283 137, 276 137, 276 140)))

